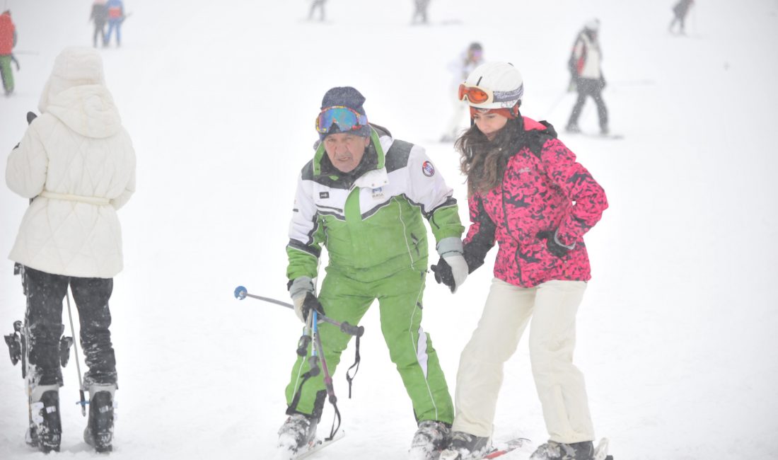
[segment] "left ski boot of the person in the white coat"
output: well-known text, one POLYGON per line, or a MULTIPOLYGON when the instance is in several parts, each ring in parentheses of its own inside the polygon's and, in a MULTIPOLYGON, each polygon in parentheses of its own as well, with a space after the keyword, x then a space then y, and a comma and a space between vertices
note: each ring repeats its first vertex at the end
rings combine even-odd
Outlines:
POLYGON ((61 438, 59 385, 36 385, 30 390, 30 428, 25 441, 47 454, 59 451, 61 438))

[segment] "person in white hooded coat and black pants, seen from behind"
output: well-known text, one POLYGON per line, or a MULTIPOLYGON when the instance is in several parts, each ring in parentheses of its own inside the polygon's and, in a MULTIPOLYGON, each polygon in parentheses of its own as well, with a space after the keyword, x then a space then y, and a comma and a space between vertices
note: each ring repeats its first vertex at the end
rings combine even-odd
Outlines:
POLYGON ((23 265, 27 384, 40 415, 31 417, 27 441, 42 451, 59 448, 58 352, 69 285, 89 367, 82 388, 90 399, 84 435, 97 451, 108 451, 117 388, 108 300, 122 269, 116 210, 135 191, 135 151, 105 86, 100 54, 90 48, 61 52, 38 108, 40 117, 31 121, 5 170, 8 187, 33 198, 9 256, 23 265))

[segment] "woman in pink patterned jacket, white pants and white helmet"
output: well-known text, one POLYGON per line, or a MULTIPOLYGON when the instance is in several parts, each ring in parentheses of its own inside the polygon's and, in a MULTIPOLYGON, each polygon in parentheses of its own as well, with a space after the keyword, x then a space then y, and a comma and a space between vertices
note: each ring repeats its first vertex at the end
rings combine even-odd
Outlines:
MULTIPOLYGON (((495 242, 499 251, 482 317, 461 354, 449 450, 461 460, 489 450, 503 364, 532 317, 532 373, 550 440, 531 458, 590 460, 594 429, 572 360, 576 311, 591 278, 583 236, 608 202, 552 126, 520 114, 523 94, 520 72, 506 62, 479 66, 459 91, 474 122, 455 143, 468 177, 469 271, 495 242)), ((456 286, 445 259, 433 271, 438 283, 456 286)))

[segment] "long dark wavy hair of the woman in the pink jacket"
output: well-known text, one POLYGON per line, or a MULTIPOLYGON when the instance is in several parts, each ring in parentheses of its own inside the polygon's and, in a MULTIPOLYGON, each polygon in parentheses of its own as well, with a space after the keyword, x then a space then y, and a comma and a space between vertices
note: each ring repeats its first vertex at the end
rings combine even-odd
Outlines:
POLYGON ((524 119, 519 114, 517 118, 508 118, 492 141, 474 124, 454 142, 454 149, 460 154, 459 170, 468 177, 468 196, 502 184, 508 160, 517 153, 523 136, 524 119))

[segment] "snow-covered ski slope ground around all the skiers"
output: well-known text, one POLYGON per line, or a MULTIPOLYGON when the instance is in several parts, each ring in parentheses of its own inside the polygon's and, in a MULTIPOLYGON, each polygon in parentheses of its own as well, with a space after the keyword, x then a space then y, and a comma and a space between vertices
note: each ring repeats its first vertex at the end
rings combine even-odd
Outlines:
MULTIPOLYGON (((3 2, 22 65, 16 95, 0 98, 0 146, 10 149, 56 54, 91 44, 91 2, 3 2)), ((524 114, 562 131, 574 99, 563 93, 569 47, 597 16, 612 131, 625 139, 560 135, 611 203, 587 234, 594 278, 576 353, 597 434, 629 460, 775 458, 778 4, 697 2, 689 37, 674 37, 672 3, 437 0, 433 25, 409 26, 410 0, 328 2, 324 24, 304 20, 306 2, 128 0, 124 46, 103 51, 138 153, 111 303, 120 378, 111 457, 272 456, 300 324, 282 307, 235 300, 233 288, 286 300, 294 181, 328 88, 362 91, 371 121, 426 146, 464 202, 457 155, 435 142, 450 116, 448 62, 482 42, 485 58, 523 73, 524 114)), ((581 125, 596 132, 587 104, 581 125)), ((5 255, 26 201, 0 187, 0 205, 5 255)), ((430 277, 424 325, 452 390, 491 276, 487 262, 456 296, 430 277)), ((23 310, 12 263, 0 264, 0 332, 23 310)), ((404 458, 415 430, 376 311, 363 325, 354 399, 345 368, 335 375, 347 436, 317 458, 365 458, 368 448, 370 458, 404 458)), ((81 439, 75 367, 64 371, 58 456, 96 456, 81 439)), ((0 406, 0 458, 39 458, 23 441, 23 380, 7 361, 0 406)), ((330 421, 328 409, 321 431, 330 421)), ((526 340, 506 366, 496 416, 496 439, 514 435, 546 437, 526 340)))

